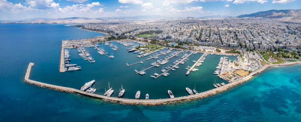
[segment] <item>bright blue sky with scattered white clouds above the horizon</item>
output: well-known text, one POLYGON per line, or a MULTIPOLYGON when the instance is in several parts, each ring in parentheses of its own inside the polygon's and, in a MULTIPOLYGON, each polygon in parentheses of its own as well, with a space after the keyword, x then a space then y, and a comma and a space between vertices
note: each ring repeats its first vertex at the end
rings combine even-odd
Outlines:
POLYGON ((301 9, 301 0, 0 0, 0 20, 239 16, 271 9, 301 9))

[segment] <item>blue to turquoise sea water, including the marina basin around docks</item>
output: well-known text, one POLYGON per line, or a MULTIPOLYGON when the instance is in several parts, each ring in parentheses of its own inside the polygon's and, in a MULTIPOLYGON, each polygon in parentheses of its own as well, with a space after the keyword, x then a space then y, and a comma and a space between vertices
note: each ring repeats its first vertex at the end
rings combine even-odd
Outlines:
MULTIPOLYGON (((146 70, 146 75, 134 70, 148 68, 145 61, 132 66, 125 63, 141 61, 133 52, 117 42, 114 51, 108 45, 99 46, 114 55, 109 59, 95 49, 86 48, 96 62, 84 61, 76 49, 69 49, 71 63, 82 66, 80 71, 59 72, 61 40, 84 39, 104 35, 99 32, 79 30, 75 27, 49 24, 0 24, 0 122, 100 122, 100 121, 196 121, 196 122, 300 122, 301 121, 301 65, 272 67, 251 80, 216 95, 189 102, 160 106, 122 105, 75 93, 36 87, 23 81, 29 62, 34 62, 30 79, 79 89, 85 82, 95 79, 95 93, 103 94, 113 87, 113 97, 122 87, 124 98, 141 98, 149 93, 151 99, 168 98, 167 90, 176 97, 187 95, 185 87, 201 91, 213 89, 212 83, 226 83, 213 71, 221 56, 209 55, 197 72, 185 75, 185 67, 193 65, 203 54, 191 55, 176 71, 157 79, 150 77, 161 73, 169 64, 146 70)), ((133 43, 137 45, 136 43, 133 43)), ((165 49, 166 50, 166 49, 165 49)), ((173 51, 175 52, 175 51, 173 51)), ((171 53, 173 53, 171 52, 171 53)), ((170 54, 171 54, 170 53, 170 54)), ((169 55, 169 54, 168 54, 169 55)), ((159 56, 163 59, 168 56, 159 56)), ((229 57, 236 60, 236 57, 229 57)))

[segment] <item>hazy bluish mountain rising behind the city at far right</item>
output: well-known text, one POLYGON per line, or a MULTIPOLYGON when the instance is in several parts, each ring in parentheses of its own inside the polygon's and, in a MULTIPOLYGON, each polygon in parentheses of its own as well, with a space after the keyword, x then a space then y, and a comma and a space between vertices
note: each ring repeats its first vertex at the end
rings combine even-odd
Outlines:
POLYGON ((244 14, 238 16, 238 18, 243 17, 262 17, 262 18, 282 18, 282 17, 292 17, 293 19, 301 20, 301 9, 294 10, 268 10, 268 11, 260 11, 251 14, 244 14))

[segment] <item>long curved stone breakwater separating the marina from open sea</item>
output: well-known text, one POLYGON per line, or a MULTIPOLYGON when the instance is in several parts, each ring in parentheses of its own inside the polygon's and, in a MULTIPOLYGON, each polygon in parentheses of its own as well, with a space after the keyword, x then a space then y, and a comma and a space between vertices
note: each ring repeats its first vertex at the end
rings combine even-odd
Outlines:
POLYGON ((268 64, 268 65, 261 67, 260 69, 258 69, 256 71, 250 73, 248 76, 246 76, 238 81, 226 84, 222 87, 215 88, 215 89, 212 89, 209 91, 200 92, 200 93, 193 94, 193 95, 186 95, 186 96, 175 97, 175 98, 166 98, 166 99, 145 100, 145 99, 127 99, 127 98, 108 97, 108 96, 103 96, 103 95, 99 95, 99 94, 80 91, 80 90, 77 90, 74 88, 61 87, 61 86, 56 86, 56 85, 51 85, 51 84, 46 84, 46 83, 30 80, 29 76, 30 76, 31 66, 33 66, 33 63, 31 63, 31 62, 27 69, 24 81, 27 83, 30 83, 32 85, 36 85, 36 86, 43 87, 43 88, 49 88, 49 89, 53 89, 53 90, 57 90, 57 91, 64 91, 64 92, 79 93, 79 94, 94 97, 94 98, 104 99, 105 101, 109 101, 109 102, 118 102, 121 104, 138 104, 138 105, 162 105, 162 104, 168 104, 168 103, 178 103, 181 101, 190 101, 193 99, 205 98, 205 97, 214 95, 218 92, 227 91, 228 89, 230 89, 232 87, 235 87, 245 81, 248 81, 249 79, 251 79, 253 77, 253 75, 257 75, 257 74, 261 73, 262 71, 268 69, 269 67, 295 65, 295 64, 300 64, 300 63, 301 63, 301 61, 287 62, 287 63, 282 63, 282 64, 268 64))

